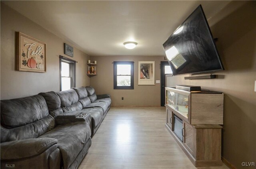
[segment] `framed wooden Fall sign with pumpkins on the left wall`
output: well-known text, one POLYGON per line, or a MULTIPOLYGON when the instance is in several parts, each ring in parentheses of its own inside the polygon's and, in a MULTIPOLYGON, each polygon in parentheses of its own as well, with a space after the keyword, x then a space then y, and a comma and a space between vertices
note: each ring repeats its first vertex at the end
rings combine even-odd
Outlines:
POLYGON ((46 44, 17 32, 17 70, 46 72, 46 44))

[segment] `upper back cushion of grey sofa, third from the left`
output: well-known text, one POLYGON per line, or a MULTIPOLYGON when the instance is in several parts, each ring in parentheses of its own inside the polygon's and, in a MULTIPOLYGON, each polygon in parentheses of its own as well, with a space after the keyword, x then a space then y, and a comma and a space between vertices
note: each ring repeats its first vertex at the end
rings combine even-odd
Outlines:
POLYGON ((56 92, 60 97, 60 106, 61 108, 67 108, 72 104, 78 102, 78 95, 74 89, 69 89, 61 92, 56 92))

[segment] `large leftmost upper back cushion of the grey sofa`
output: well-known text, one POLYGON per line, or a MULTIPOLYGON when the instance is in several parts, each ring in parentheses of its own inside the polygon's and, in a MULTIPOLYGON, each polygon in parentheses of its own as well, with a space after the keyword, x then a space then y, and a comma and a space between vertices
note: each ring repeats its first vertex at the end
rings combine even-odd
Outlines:
POLYGON ((1 100, 1 125, 6 128, 30 124, 48 114, 48 106, 41 95, 1 100))

